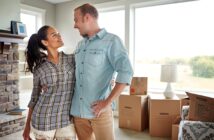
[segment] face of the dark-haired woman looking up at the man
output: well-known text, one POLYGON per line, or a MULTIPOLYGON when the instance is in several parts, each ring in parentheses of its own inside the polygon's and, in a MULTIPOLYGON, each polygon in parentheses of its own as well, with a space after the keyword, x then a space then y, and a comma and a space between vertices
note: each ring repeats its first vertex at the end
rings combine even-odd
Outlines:
POLYGON ((47 30, 47 40, 43 40, 43 44, 48 48, 58 49, 64 45, 61 35, 53 27, 47 30))

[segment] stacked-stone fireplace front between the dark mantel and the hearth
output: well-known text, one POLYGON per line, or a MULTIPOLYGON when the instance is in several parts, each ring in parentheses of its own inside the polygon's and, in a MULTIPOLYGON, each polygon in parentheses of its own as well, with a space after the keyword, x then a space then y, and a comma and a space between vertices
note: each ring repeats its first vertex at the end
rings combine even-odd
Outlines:
POLYGON ((19 107, 18 44, 0 43, 0 113, 19 107))

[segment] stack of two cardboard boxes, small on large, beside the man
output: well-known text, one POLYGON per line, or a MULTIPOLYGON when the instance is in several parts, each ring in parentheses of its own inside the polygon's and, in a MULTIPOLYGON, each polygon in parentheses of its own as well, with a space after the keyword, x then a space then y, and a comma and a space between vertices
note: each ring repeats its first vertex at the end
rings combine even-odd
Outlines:
POLYGON ((120 95, 119 127, 136 131, 148 127, 147 77, 133 77, 129 95, 120 95))

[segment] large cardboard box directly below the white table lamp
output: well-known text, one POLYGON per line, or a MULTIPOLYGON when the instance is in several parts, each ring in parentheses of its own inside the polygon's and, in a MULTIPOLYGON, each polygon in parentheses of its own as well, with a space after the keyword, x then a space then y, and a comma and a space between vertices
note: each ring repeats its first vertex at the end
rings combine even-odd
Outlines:
POLYGON ((171 137, 172 124, 180 115, 179 99, 149 98, 149 133, 155 137, 171 137))

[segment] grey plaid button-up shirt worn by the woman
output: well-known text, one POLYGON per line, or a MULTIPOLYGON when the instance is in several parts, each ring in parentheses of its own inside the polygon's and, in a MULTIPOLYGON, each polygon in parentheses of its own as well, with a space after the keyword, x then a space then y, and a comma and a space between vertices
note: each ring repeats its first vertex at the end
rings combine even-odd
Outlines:
POLYGON ((69 111, 75 84, 74 65, 73 54, 60 52, 58 64, 45 59, 35 69, 28 104, 33 109, 32 126, 35 129, 48 131, 71 124, 69 111))

